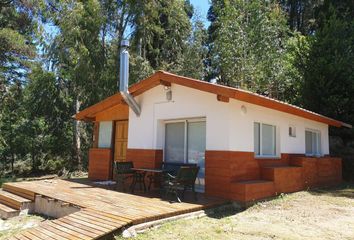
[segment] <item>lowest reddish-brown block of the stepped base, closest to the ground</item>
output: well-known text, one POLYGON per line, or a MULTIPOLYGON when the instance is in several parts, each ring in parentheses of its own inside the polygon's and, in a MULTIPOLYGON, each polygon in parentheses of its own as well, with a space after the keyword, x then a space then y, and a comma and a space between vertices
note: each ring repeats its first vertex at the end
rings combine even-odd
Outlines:
POLYGON ((232 186, 236 199, 251 202, 276 195, 273 181, 250 180, 234 182, 232 186))

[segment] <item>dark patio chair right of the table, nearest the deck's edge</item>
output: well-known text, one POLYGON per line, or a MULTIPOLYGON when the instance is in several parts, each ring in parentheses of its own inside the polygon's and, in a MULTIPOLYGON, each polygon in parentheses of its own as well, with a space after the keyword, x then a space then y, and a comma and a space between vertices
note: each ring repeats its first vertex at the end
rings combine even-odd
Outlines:
POLYGON ((174 194, 178 200, 178 192, 182 191, 182 200, 184 200, 184 193, 186 190, 192 190, 195 200, 197 200, 197 193, 195 192, 195 180, 199 172, 199 167, 194 166, 181 166, 176 176, 169 173, 166 174, 163 187, 165 189, 166 197, 168 194, 174 194))

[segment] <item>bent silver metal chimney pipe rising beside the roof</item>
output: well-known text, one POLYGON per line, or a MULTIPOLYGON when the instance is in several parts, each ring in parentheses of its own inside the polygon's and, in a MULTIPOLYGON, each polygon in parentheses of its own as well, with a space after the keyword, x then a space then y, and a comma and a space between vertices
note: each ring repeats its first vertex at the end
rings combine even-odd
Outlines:
POLYGON ((129 93, 129 41, 123 40, 121 42, 120 51, 120 69, 119 69, 119 92, 122 95, 124 101, 134 111, 137 117, 140 116, 140 106, 135 101, 134 97, 129 93))

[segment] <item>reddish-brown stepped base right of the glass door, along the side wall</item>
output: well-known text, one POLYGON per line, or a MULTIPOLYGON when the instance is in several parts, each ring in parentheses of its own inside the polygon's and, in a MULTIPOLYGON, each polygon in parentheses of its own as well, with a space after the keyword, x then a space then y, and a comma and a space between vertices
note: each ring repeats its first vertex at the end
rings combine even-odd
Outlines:
POLYGON ((207 151, 205 158, 206 194, 242 203, 342 181, 340 158, 282 154, 258 159, 252 152, 234 151, 207 151))

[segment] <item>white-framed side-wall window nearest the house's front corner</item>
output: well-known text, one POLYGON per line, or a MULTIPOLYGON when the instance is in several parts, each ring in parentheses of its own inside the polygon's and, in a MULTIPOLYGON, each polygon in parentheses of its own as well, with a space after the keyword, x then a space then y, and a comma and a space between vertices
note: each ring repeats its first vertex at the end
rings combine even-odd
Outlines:
POLYGON ((256 156, 276 156, 276 127, 254 123, 254 153, 256 156))

